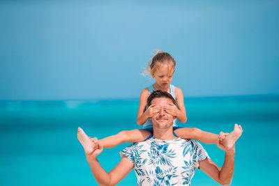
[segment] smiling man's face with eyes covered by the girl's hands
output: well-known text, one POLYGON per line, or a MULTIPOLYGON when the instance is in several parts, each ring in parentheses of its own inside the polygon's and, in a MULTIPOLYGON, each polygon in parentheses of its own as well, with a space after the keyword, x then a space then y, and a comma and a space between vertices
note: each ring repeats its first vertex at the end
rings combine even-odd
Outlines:
POLYGON ((164 107, 169 105, 169 103, 172 103, 172 100, 169 98, 155 98, 151 101, 151 104, 161 107, 158 114, 151 117, 153 128, 157 127, 163 129, 172 126, 175 117, 172 116, 172 114, 167 114, 167 112, 164 110, 164 107))

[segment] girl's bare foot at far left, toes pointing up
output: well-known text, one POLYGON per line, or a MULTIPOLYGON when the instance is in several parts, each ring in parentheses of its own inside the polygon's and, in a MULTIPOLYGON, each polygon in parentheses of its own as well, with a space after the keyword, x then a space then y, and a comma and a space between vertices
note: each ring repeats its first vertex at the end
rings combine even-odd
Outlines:
POLYGON ((77 139, 80 140, 80 144, 82 144, 86 155, 91 154, 96 148, 98 148, 98 146, 89 139, 80 127, 77 129, 77 139))

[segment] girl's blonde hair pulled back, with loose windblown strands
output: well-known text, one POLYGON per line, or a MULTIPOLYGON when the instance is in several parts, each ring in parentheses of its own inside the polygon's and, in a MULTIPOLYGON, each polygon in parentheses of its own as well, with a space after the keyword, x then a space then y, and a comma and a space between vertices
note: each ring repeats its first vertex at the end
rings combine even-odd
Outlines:
POLYGON ((153 56, 153 58, 149 61, 147 68, 145 68, 142 75, 153 75, 153 73, 158 68, 158 65, 160 64, 167 64, 172 65, 172 68, 169 70, 169 75, 174 74, 175 70, 175 60, 174 58, 167 52, 163 52, 161 50, 153 50, 156 54, 153 56))

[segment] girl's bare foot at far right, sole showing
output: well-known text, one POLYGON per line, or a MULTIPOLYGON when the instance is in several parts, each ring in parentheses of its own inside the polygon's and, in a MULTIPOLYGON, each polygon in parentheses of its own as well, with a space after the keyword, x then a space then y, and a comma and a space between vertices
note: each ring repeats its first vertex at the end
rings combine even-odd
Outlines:
POLYGON ((225 137, 225 139, 222 140, 223 146, 225 146, 225 148, 231 149, 234 146, 234 143, 236 142, 237 139, 239 139, 239 137, 242 134, 242 128, 241 125, 234 125, 234 131, 232 131, 231 133, 229 133, 227 135, 227 137, 225 137))

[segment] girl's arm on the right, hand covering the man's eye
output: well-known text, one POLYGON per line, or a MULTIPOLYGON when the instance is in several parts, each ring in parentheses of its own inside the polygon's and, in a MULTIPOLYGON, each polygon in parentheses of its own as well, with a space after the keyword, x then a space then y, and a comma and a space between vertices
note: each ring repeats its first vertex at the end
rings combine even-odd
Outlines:
POLYGON ((186 109, 184 106, 184 97, 183 93, 180 88, 175 87, 175 97, 176 97, 176 107, 174 104, 169 104, 169 106, 164 107, 167 113, 176 116, 181 123, 186 123, 187 116, 186 116, 186 109))

